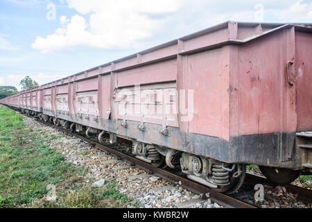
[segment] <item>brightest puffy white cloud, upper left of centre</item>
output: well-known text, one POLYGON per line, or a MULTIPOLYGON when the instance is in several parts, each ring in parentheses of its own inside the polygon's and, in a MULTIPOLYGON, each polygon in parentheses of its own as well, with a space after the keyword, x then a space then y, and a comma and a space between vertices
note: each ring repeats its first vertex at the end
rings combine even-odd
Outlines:
POLYGON ((184 0, 67 0, 69 8, 89 14, 60 17, 62 28, 46 37, 37 36, 32 46, 42 53, 64 51, 73 46, 125 49, 150 37, 166 22, 168 13, 180 9, 184 0))

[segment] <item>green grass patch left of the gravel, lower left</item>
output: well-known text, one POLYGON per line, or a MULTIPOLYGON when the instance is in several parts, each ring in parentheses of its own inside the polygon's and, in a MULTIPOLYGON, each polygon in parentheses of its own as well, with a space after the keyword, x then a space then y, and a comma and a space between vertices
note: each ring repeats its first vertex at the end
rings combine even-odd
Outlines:
POLYGON ((0 108, 0 207, 125 207, 131 201, 112 181, 101 189, 83 182, 87 170, 64 162, 49 142, 58 139, 24 126, 23 117, 0 108), (47 185, 57 199, 46 200, 47 185))

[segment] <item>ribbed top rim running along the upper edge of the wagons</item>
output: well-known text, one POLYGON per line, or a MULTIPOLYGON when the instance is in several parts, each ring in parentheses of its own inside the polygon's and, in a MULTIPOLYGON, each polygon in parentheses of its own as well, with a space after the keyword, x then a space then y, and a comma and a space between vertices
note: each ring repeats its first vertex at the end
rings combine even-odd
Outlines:
MULTIPOLYGON (((216 26, 211 26, 209 28, 206 28, 202 31, 198 31, 196 33, 192 33, 190 35, 186 35, 184 37, 181 37, 177 40, 172 40, 170 42, 166 42, 164 44, 160 44, 158 46, 154 46, 150 49, 146 49, 144 51, 140 51, 139 53, 132 54, 130 56, 126 56, 124 58, 120 58, 118 60, 114 60, 112 62, 107 62, 103 65, 99 65, 97 67, 94 67, 92 69, 87 69, 85 71, 81 71, 77 74, 73 74, 71 76, 67 76, 65 78, 60 78, 58 80, 54 80, 51 83, 46 83, 44 85, 40 85, 39 87, 34 87, 33 89, 28 89, 22 92, 19 92, 19 94, 25 94, 28 92, 33 92, 37 89, 44 89, 46 87, 50 86, 55 86, 55 85, 62 85, 66 84, 63 83, 64 80, 67 80, 69 78, 73 78, 75 80, 76 76, 82 75, 89 73, 91 71, 96 71, 99 69, 103 69, 105 67, 112 67, 113 65, 119 63, 119 62, 124 62, 126 60, 130 60, 132 58, 137 58, 138 56, 142 56, 148 53, 153 53, 154 51, 164 49, 169 46, 175 46, 177 45, 177 48, 179 48, 180 42, 187 42, 189 40, 195 40, 198 37, 202 37, 203 35, 212 35, 212 33, 216 33, 218 31, 224 30, 223 33, 220 33, 220 35, 216 35, 214 38, 217 38, 218 40, 212 41, 211 46, 223 46, 225 44, 243 44, 245 42, 250 42, 252 40, 255 40, 263 35, 268 35, 269 33, 275 32, 280 30, 281 28, 289 28, 289 27, 295 27, 296 31, 302 31, 302 32, 307 32, 307 33, 312 33, 312 23, 267 23, 267 22, 232 22, 232 21, 227 21, 223 22, 221 24, 217 24, 216 26), (253 33, 247 33, 244 35, 239 35, 239 30, 244 29, 244 28, 251 28, 254 29, 253 33), (222 39, 223 38, 223 39, 222 39)), ((203 46, 203 48, 209 47, 209 45, 203 46)), ((197 48, 194 48, 189 51, 196 51, 198 50, 197 48)), ((185 51, 176 51, 175 53, 169 53, 169 56, 176 56, 179 53, 187 53, 185 51)), ((158 58, 158 60, 161 58, 158 58)), ((108 69, 107 69, 108 70, 108 69)), ((114 71, 108 70, 106 72, 114 71)), ((103 71, 100 71, 100 74, 103 74, 103 71)), ((92 76, 89 76, 92 77, 92 76)), ((13 95, 13 96, 17 96, 13 95)), ((9 96, 7 98, 11 98, 13 96, 9 96)))

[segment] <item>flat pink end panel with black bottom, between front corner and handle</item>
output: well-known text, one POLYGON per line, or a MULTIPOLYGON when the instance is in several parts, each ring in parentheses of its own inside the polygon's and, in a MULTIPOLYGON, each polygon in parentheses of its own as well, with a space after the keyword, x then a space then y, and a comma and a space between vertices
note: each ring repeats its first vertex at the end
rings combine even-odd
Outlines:
POLYGON ((232 162, 297 166, 297 86, 289 76, 295 56, 293 26, 232 46, 232 162))

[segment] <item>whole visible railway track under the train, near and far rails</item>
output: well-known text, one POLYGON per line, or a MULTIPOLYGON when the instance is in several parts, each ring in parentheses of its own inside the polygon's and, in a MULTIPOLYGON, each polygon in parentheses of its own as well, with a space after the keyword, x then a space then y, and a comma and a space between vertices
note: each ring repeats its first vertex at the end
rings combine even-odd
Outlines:
MULTIPOLYGON (((28 116, 31 117, 31 116, 28 116)), ((101 151, 104 151, 107 154, 116 156, 119 160, 124 160, 126 162, 129 162, 132 166, 139 167, 140 169, 144 169, 148 171, 150 174, 154 174, 155 176, 159 176, 160 178, 163 178, 165 180, 168 180, 169 182, 181 182, 181 186, 184 189, 187 189, 189 191, 193 191, 195 194, 207 194, 209 193, 209 198, 211 198, 212 201, 215 203, 218 203, 219 205, 223 205, 224 207, 229 208, 257 208, 257 205, 254 205, 251 203, 252 201, 248 201, 246 196, 252 195, 254 192, 253 189, 250 189, 249 191, 239 191, 238 194, 234 195, 226 195, 218 193, 212 189, 209 189, 209 187, 205 187, 204 185, 200 185, 198 182, 194 182, 193 180, 189 180, 187 178, 184 178, 183 176, 177 175, 176 173, 173 173, 171 171, 166 171, 164 169, 160 169, 158 167, 153 167, 152 165, 148 164, 147 162, 144 162, 142 160, 139 160, 135 157, 132 157, 130 155, 126 155, 125 153, 122 153, 120 151, 116 151, 113 148, 110 148, 109 146, 105 146, 103 144, 100 144, 95 141, 95 139, 88 139, 87 137, 80 135, 78 133, 72 133, 70 130, 67 130, 65 128, 62 128, 60 126, 55 126, 52 123, 48 123, 45 121, 41 121, 40 119, 31 117, 32 119, 35 119, 36 121, 43 123, 46 126, 50 126, 51 128, 55 128, 57 130, 60 130, 62 133, 66 133, 67 135, 71 135, 73 137, 76 137, 78 139, 83 140, 84 142, 87 142, 94 148, 98 148, 101 151)), ((251 187, 254 187, 254 185, 257 184, 266 184, 266 185, 272 185, 268 180, 263 177, 256 175, 254 173, 246 173, 245 177, 245 185, 249 185, 251 187)), ((312 202, 312 191, 309 189, 304 189, 302 187, 298 187, 295 185, 284 185, 284 187, 291 191, 293 194, 297 194, 297 198, 300 200, 304 200, 306 202, 311 203, 312 202)))

